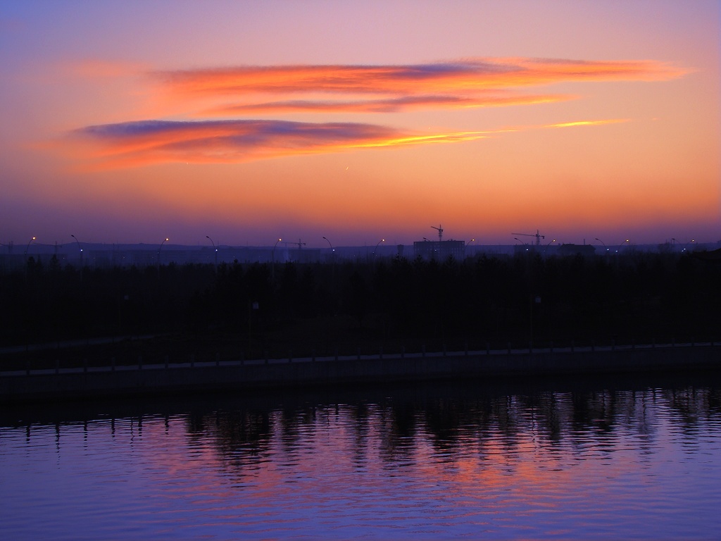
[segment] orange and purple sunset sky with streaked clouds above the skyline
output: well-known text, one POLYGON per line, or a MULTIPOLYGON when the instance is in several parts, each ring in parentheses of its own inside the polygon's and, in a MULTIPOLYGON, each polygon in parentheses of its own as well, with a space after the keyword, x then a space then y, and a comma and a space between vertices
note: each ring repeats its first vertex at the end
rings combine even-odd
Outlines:
POLYGON ((720 11, 0 0, 0 242, 717 242, 720 11))

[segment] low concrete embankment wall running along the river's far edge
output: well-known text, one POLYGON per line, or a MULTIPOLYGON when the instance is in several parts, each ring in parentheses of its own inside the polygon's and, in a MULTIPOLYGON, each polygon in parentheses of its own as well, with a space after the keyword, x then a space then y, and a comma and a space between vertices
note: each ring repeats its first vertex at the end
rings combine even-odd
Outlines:
POLYGON ((721 369, 721 346, 637 346, 0 372, 0 401, 476 377, 721 369))

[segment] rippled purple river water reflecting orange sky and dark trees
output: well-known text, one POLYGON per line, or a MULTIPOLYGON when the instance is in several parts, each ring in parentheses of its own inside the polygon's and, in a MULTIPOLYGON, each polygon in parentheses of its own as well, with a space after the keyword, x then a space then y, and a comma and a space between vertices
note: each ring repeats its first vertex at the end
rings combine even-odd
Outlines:
POLYGON ((716 376, 0 413, 6 540, 711 539, 720 509, 716 376))

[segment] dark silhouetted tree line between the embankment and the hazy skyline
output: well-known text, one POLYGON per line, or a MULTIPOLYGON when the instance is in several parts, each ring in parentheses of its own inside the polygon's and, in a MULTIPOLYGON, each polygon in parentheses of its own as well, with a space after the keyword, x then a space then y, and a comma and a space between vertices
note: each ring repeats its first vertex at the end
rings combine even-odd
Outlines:
MULTIPOLYGON (((718 339, 721 267, 699 255, 61 268, 0 276, 0 345, 170 334, 298 353, 718 339)), ((252 354, 251 351, 248 352, 252 354)))

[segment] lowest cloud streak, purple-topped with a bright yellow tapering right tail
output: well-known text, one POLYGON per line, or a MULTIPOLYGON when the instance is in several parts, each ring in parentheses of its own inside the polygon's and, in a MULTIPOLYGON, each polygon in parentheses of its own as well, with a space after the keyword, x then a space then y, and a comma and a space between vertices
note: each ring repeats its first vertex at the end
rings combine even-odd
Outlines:
POLYGON ((81 128, 65 144, 70 144, 74 154, 90 168, 115 169, 166 162, 237 163, 368 147, 469 141, 485 136, 485 132, 410 133, 362 123, 146 120, 81 128))

